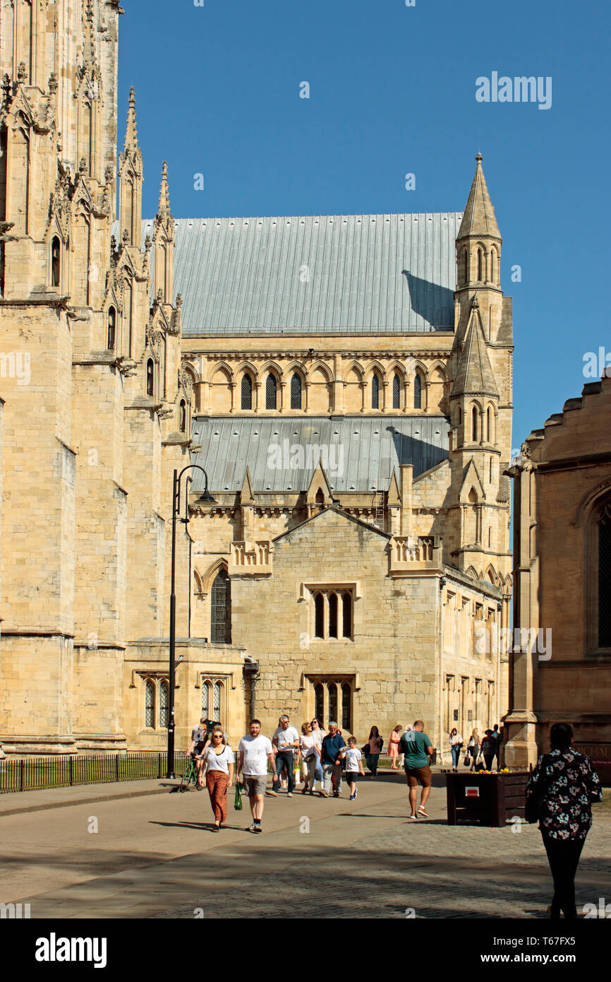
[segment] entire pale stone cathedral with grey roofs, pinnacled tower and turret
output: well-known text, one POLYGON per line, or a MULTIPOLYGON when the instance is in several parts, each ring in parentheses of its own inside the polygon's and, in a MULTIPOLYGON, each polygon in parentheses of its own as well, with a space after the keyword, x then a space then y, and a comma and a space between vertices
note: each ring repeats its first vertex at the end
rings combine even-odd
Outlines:
MULTIPOLYGON (((464 212, 142 218, 118 0, 2 0, 0 747, 507 709, 512 309, 464 212), (205 471, 205 476, 204 472, 205 471)), ((366 733, 367 731, 367 733, 366 733)))

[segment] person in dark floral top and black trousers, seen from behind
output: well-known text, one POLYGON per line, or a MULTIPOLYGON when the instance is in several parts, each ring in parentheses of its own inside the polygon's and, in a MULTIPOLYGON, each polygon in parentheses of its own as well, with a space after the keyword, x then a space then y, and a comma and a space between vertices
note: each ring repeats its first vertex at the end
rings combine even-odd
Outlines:
POLYGON ((575 919, 575 874, 592 824, 591 802, 600 801, 598 775, 589 758, 573 749, 573 729, 555 723, 549 731, 551 752, 539 757, 527 788, 527 801, 539 782, 542 802, 539 830, 554 881, 550 917, 575 919))

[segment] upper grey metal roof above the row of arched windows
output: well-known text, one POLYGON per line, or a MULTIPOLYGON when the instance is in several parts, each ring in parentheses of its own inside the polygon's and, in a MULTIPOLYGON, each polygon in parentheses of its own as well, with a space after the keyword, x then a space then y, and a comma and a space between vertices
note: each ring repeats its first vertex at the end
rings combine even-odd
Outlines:
POLYGON ((452 330, 461 217, 179 219, 182 334, 452 330))

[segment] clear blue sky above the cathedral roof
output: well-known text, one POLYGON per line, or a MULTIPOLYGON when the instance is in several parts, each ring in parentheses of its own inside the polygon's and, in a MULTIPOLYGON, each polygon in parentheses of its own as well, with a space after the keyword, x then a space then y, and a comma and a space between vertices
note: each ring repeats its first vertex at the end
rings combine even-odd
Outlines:
POLYGON ((120 140, 133 85, 145 216, 164 159, 181 218, 462 211, 480 150, 514 298, 514 447, 581 393, 585 353, 611 354, 608 3, 124 6, 120 140), (551 108, 476 101, 492 72, 551 77, 551 108))

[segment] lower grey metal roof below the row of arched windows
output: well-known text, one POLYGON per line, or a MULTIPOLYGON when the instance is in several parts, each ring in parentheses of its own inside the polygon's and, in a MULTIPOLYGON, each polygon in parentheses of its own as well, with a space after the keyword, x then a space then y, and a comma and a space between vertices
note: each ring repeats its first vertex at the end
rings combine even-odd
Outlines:
MULTIPOLYGON (((319 459, 334 491, 382 491, 399 464, 414 464, 417 477, 445 460, 448 429, 445 416, 199 416, 192 438, 202 449, 191 463, 213 493, 239 491, 246 464, 255 492, 305 491, 319 459)), ((192 493, 203 489, 195 470, 192 493)))

